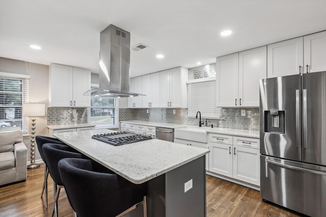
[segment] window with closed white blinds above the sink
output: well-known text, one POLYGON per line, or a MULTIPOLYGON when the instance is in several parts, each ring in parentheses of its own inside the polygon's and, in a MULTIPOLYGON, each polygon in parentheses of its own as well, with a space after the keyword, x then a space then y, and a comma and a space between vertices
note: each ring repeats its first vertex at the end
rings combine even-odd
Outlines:
POLYGON ((202 118, 221 118, 222 108, 216 107, 216 78, 187 81, 188 117, 196 117, 200 111, 202 118))

